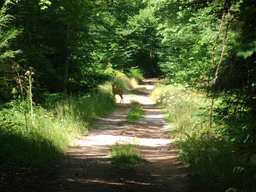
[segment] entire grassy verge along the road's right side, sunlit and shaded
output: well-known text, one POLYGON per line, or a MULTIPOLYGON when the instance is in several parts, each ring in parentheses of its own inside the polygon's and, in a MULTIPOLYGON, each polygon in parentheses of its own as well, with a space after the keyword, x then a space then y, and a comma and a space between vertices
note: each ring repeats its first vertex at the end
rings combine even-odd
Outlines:
POLYGON ((163 108, 172 125, 180 160, 191 166, 211 190, 256 190, 256 155, 237 151, 234 140, 223 134, 228 125, 209 126, 209 102, 188 85, 158 84, 151 97, 163 108))

